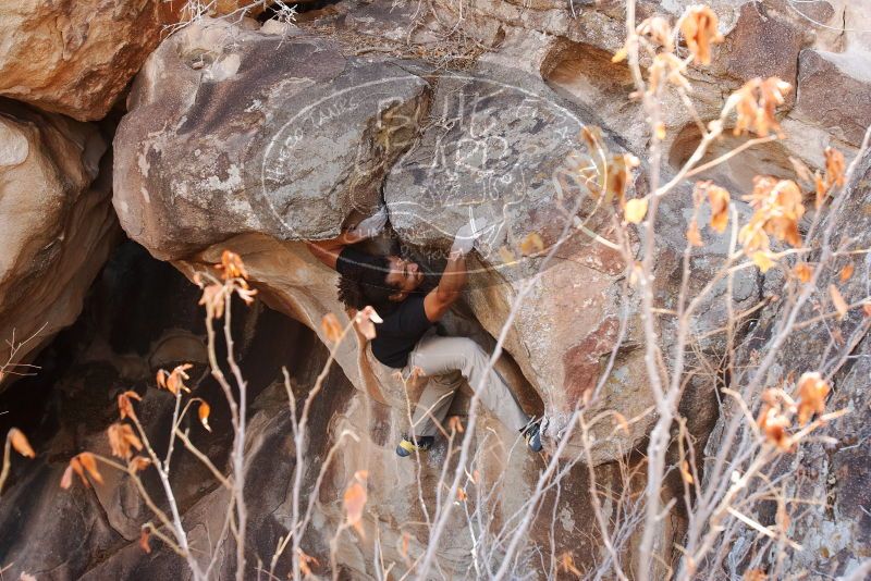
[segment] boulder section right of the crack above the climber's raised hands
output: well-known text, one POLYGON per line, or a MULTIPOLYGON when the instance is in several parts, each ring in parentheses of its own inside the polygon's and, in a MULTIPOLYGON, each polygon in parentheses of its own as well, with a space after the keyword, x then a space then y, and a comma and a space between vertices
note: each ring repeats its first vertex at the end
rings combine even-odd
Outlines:
MULTIPOLYGON (((400 238, 432 260, 469 217, 493 225, 478 245, 467 300, 493 336, 512 319, 505 348, 542 398, 550 435, 592 394, 614 349, 616 367, 589 413, 642 415, 652 406, 642 351, 626 347, 633 341, 619 346, 621 305, 631 300, 623 293, 625 263, 619 251, 572 222, 580 212, 587 232, 614 237, 611 206, 596 200, 575 173, 574 163, 590 163, 599 153, 580 138, 596 118, 539 76, 492 62, 441 75, 432 109, 436 122, 394 165, 384 187, 400 238), (555 183, 563 185, 557 189, 555 183), (522 240, 528 236, 538 236, 542 248, 524 258, 522 240), (551 248, 554 256, 544 258, 551 248)), ((623 151, 605 141, 612 153, 623 151)), ((634 323, 631 318, 623 341, 637 334, 634 323)), ((651 420, 648 415, 628 433, 614 434, 611 422, 603 424, 593 461, 631 449, 651 420)))

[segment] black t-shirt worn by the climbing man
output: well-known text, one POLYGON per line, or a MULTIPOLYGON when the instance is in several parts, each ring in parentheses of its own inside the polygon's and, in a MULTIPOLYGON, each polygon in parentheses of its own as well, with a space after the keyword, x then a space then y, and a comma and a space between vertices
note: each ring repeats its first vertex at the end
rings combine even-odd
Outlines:
MULTIPOLYGON (((375 268, 372 257, 349 247, 345 247, 335 261, 335 270, 346 276, 354 276, 365 268, 375 268)), ((433 325, 424 309, 424 295, 410 295, 393 312, 382 314, 382 319, 383 323, 376 323, 372 355, 388 367, 402 369, 408 362, 408 354, 433 325)))

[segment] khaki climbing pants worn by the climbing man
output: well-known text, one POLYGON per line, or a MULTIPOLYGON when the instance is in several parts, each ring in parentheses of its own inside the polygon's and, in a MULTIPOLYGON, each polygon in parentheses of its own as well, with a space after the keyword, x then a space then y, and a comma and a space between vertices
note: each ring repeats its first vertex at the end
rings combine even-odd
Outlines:
MULTIPOLYGON (((477 343, 467 337, 442 337, 428 332, 408 355, 408 363, 402 370, 408 378, 417 371, 427 383, 420 393, 412 422, 414 435, 436 435, 436 422, 444 423, 454 394, 468 381, 483 407, 512 430, 523 429, 530 420, 517 403, 505 380, 491 369, 484 373, 490 357, 477 343)), ((407 435, 413 431, 408 430, 407 435)))

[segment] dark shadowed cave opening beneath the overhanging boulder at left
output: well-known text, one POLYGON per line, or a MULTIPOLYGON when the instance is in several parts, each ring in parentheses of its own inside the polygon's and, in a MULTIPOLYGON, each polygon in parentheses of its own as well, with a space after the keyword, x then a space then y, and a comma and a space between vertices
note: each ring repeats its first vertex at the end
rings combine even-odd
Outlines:
MULTIPOLYGON (((199 288, 171 264, 154 259, 132 240, 122 243, 93 283, 76 322, 39 353, 32 375, 0 393, 2 433, 19 428, 37 454, 47 452, 49 461, 65 461, 118 420, 118 394, 133 390, 142 396, 169 396, 157 391, 156 373, 184 362, 195 364, 188 386, 210 403, 212 424, 229 422, 224 396, 206 364, 199 295, 199 288), (69 437, 58 438, 59 434, 69 437)), ((326 357, 311 331, 261 301, 245 307, 234 300, 233 312, 236 357, 249 401, 281 379, 282 367, 302 381, 326 357)), ((217 353, 222 361, 222 343, 217 353)), ((169 418, 155 421, 169 428, 169 418)), ((222 438, 199 436, 213 446, 222 438)), ((23 462, 13 462, 7 489, 14 486, 23 468, 23 462)))

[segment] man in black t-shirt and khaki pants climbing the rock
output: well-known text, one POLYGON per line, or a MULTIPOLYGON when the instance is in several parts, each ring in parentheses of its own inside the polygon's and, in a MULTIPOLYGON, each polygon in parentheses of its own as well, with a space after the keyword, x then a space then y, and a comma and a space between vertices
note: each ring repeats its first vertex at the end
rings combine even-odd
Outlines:
POLYGON ((338 238, 306 244, 315 257, 340 273, 339 299, 345 306, 357 310, 372 306, 383 319, 376 324, 371 341, 376 359, 401 370, 403 376, 418 373, 428 379, 412 417, 412 429, 396 454, 406 457, 429 449, 439 430, 437 422, 444 421, 464 379, 488 410, 517 430, 530 450, 540 452, 540 420, 527 416, 503 378, 488 369, 490 357, 483 349, 470 338, 440 336, 434 330, 466 286, 466 255, 488 230, 486 222, 470 220, 456 232, 444 271, 432 288, 424 284, 424 271, 416 262, 352 248, 380 233, 385 223, 382 208, 338 238))

